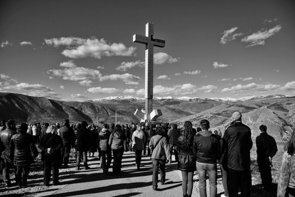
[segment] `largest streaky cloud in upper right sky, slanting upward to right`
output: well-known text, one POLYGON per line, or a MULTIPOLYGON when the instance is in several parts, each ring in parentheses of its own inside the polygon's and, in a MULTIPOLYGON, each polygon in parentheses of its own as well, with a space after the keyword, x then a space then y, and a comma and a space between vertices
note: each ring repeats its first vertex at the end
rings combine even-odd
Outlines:
POLYGON ((281 30, 282 26, 277 25, 276 27, 273 27, 269 30, 261 29, 258 32, 253 33, 252 35, 248 35, 245 38, 242 38, 242 42, 250 43, 246 47, 251 47, 255 45, 264 45, 265 40, 273 35, 275 35, 277 32, 281 30))

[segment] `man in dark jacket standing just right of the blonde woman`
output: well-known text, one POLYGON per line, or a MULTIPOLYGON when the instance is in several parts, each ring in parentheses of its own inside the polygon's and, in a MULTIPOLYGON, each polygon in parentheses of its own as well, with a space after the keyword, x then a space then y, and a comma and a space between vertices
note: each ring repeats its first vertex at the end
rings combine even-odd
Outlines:
POLYGON ((59 129, 60 137, 63 139, 61 148, 61 165, 64 162, 64 168, 68 168, 68 162, 71 152, 71 146, 75 146, 76 136, 73 128, 70 127, 69 119, 65 119, 62 127, 59 129))

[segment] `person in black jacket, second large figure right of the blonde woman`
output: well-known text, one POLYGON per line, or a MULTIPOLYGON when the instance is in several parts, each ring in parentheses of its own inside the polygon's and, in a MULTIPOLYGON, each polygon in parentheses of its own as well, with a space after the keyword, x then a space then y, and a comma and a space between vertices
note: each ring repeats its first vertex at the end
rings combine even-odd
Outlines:
POLYGON ((90 130, 86 127, 88 126, 86 121, 81 122, 81 128, 77 130, 77 158, 76 158, 76 170, 80 169, 80 157, 83 155, 84 169, 88 170, 90 167, 87 164, 87 152, 91 143, 90 130))

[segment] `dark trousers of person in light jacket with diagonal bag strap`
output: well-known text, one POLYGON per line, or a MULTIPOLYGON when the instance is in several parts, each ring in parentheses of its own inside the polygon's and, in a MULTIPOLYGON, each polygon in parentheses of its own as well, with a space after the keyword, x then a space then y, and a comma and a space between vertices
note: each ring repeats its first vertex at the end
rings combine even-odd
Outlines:
POLYGON ((160 166, 160 175, 161 175, 161 180, 160 182, 162 184, 165 183, 165 164, 166 161, 165 159, 153 159, 152 158, 152 163, 153 163, 153 188, 158 188, 158 172, 159 172, 159 166, 160 166))

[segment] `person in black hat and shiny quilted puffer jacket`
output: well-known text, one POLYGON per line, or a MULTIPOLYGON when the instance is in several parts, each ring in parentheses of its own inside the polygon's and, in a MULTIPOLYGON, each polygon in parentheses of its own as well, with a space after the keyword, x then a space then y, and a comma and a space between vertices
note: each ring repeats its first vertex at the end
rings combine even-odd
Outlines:
POLYGON ((17 167, 16 179, 19 188, 27 187, 30 164, 34 158, 30 149, 37 149, 33 137, 27 133, 28 125, 21 123, 17 125, 18 133, 14 134, 10 141, 11 155, 13 155, 13 165, 17 167))

